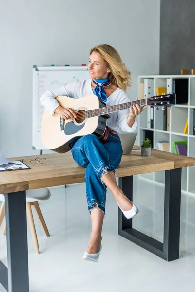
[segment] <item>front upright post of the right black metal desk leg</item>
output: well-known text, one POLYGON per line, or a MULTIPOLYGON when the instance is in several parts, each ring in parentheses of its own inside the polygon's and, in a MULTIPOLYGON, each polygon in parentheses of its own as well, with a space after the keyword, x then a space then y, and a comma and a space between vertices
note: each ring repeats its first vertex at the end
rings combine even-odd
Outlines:
POLYGON ((181 168, 165 171, 164 244, 167 261, 179 258, 181 168))

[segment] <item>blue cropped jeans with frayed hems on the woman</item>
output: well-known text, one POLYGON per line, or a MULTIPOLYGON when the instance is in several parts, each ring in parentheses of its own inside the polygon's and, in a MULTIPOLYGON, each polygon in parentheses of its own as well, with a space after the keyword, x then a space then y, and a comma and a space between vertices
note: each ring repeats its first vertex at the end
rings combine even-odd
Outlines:
POLYGON ((97 204, 105 214, 106 185, 101 181, 102 174, 114 171, 121 161, 122 145, 117 134, 109 134, 106 141, 100 141, 94 134, 83 136, 70 145, 76 163, 85 167, 86 197, 89 212, 97 204))

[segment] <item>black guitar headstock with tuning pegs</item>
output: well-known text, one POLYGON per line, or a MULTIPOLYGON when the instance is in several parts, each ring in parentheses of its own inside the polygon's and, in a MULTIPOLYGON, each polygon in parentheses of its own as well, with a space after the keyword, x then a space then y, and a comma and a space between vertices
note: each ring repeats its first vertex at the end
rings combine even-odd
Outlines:
POLYGON ((153 97, 147 98, 147 104, 156 107, 160 106, 163 107, 162 110, 165 110, 165 106, 176 105, 176 94, 172 92, 170 92, 169 94, 162 95, 156 94, 153 97))

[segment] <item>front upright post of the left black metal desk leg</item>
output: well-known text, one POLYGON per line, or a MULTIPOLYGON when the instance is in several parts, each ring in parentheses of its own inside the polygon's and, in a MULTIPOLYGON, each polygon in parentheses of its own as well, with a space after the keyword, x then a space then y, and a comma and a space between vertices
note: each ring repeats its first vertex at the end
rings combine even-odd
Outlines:
POLYGON ((29 292, 25 193, 5 195, 9 292, 29 292))

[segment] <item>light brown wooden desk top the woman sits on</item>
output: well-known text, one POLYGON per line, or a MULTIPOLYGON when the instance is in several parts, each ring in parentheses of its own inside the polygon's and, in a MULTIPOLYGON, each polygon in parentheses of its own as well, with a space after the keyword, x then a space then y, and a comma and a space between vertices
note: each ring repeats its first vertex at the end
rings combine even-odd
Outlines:
MULTIPOLYGON (((140 149, 140 146, 133 149, 140 149)), ((32 160, 36 157, 14 157, 10 160, 32 160)), ((71 151, 45 154, 41 158, 47 159, 44 164, 26 163, 31 169, 0 172, 0 193, 84 182, 85 168, 76 164, 71 151)), ((123 177, 187 166, 195 166, 195 158, 152 149, 150 157, 142 157, 140 152, 135 151, 123 155, 116 172, 117 177, 123 177)))

